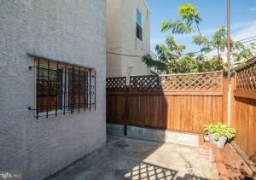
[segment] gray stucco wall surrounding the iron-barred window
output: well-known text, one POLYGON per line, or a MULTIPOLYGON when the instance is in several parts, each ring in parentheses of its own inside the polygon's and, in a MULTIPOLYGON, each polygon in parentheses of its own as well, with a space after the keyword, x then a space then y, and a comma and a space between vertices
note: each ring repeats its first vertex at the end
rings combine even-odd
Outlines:
POLYGON ((0 170, 41 179, 106 141, 105 0, 0 1, 0 170), (96 111, 35 119, 31 52, 96 68, 96 111))

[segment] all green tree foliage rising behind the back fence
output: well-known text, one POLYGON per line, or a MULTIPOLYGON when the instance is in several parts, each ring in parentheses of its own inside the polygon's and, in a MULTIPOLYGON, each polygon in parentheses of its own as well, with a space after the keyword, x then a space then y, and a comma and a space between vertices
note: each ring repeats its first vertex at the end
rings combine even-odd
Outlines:
MULTIPOLYGON (((224 26, 220 26, 212 36, 206 38, 201 35, 199 25, 201 15, 195 5, 187 3, 180 6, 177 15, 178 20, 164 21, 160 30, 162 32, 171 31, 172 34, 183 34, 195 32, 196 26, 198 35, 194 36, 192 43, 200 46, 200 55, 194 53, 183 54, 185 45, 179 45, 172 36, 166 37, 166 44, 156 46, 156 53, 159 60, 153 60, 150 55, 143 56, 143 62, 148 67, 155 67, 162 73, 201 73, 223 70, 227 73, 227 63, 224 63, 222 53, 226 51, 227 31, 224 26), (206 57, 205 53, 217 51, 216 55, 206 57)), ((231 55, 238 64, 241 60, 248 59, 256 53, 256 45, 251 44, 245 47, 240 42, 230 41, 231 55)))

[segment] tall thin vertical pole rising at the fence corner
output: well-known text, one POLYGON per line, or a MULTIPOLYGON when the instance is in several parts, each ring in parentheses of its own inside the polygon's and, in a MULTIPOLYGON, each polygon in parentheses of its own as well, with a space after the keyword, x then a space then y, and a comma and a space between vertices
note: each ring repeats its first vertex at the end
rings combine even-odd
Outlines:
POLYGON ((230 0, 227 0, 227 60, 228 60, 228 125, 230 125, 230 91, 231 91, 231 64, 230 64, 230 0))

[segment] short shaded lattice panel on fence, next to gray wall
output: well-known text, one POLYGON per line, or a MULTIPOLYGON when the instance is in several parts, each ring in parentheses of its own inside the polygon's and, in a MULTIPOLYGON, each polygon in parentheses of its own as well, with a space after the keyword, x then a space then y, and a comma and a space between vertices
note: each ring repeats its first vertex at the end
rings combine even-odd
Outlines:
POLYGON ((126 77, 107 78, 106 88, 108 90, 122 90, 126 85, 126 77))

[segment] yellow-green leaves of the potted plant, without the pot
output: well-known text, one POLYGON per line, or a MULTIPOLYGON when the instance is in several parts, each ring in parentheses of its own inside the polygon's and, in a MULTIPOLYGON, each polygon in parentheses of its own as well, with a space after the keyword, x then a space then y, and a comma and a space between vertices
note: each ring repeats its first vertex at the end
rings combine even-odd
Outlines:
POLYGON ((216 141, 220 136, 226 136, 229 140, 236 136, 236 130, 223 123, 204 125, 204 131, 212 133, 216 141))

